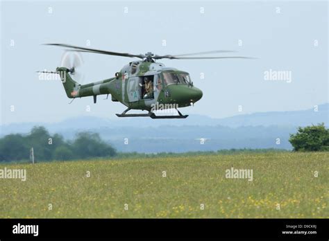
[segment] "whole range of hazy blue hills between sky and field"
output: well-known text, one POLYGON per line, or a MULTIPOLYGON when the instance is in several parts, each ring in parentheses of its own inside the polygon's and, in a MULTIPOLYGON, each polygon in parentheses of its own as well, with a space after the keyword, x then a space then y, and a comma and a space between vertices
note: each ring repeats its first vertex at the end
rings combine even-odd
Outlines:
POLYGON ((99 132, 119 151, 187 152, 230 148, 291 149, 289 134, 296 127, 325 123, 328 126, 329 104, 318 111, 273 111, 241 114, 228 118, 191 115, 185 120, 151 118, 107 119, 93 116, 68 118, 59 123, 14 123, 1 126, 2 134, 27 133, 34 125, 43 125, 51 133, 71 139, 76 132, 99 132), (128 145, 124 139, 128 139, 128 145), (205 142, 201 144, 201 139, 205 142), (278 144, 278 139, 280 143, 278 144))

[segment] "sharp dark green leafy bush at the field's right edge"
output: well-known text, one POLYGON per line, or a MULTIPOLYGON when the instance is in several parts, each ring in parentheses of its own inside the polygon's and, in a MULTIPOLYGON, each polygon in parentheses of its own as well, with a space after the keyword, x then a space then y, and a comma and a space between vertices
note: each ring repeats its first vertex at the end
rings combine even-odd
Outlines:
POLYGON ((296 134, 290 134, 289 142, 295 151, 329 150, 329 130, 324 123, 307 127, 298 127, 296 134))

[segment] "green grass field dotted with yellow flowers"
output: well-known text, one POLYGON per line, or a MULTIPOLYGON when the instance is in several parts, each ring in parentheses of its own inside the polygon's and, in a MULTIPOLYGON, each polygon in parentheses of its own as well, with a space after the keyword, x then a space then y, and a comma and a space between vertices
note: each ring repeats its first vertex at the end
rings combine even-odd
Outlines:
POLYGON ((329 217, 329 152, 5 167, 27 178, 0 179, 0 217, 329 217), (253 181, 227 179, 231 167, 252 169, 253 181))

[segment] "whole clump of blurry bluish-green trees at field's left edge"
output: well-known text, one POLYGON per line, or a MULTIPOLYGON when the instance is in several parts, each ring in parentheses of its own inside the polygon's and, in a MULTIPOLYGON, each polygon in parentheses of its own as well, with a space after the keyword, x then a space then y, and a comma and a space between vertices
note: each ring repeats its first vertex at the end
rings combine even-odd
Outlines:
POLYGON ((42 126, 33 127, 29 134, 9 134, 0 139, 0 161, 30 159, 33 148, 35 161, 90 159, 113 157, 115 148, 103 141, 99 134, 79 132, 72 141, 60 134, 49 134, 42 126))

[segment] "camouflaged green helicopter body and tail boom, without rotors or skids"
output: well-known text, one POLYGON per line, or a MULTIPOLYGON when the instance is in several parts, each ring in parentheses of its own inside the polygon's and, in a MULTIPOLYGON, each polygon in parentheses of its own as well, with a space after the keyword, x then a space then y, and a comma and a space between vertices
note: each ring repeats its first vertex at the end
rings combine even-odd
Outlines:
POLYGON ((200 89, 193 86, 189 73, 158 62, 135 61, 115 73, 114 78, 90 84, 74 84, 73 91, 67 96, 94 96, 96 102, 96 96, 101 94, 110 94, 112 101, 119 101, 129 109, 148 111, 187 107, 203 95, 200 89))

